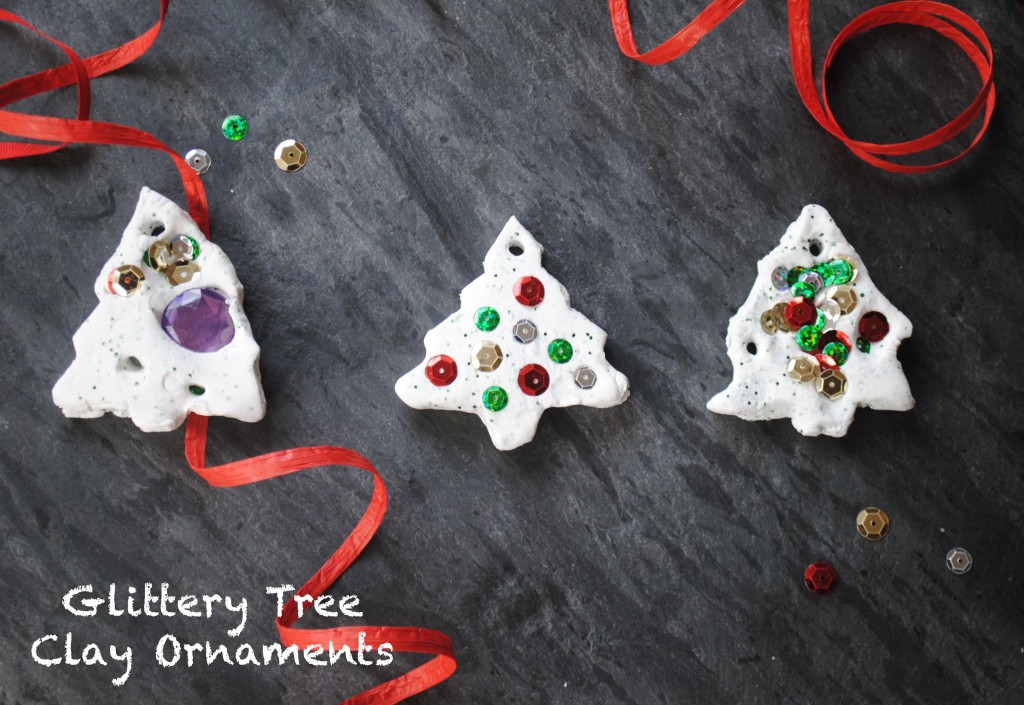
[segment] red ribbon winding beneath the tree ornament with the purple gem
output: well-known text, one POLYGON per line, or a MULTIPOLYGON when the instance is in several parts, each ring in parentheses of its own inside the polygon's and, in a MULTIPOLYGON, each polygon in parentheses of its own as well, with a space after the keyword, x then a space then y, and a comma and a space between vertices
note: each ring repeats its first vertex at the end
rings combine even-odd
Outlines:
MULTIPOLYGON (((65 120, 38 115, 25 115, 0 110, 0 131, 16 137, 45 139, 55 144, 38 142, 0 142, 0 160, 16 159, 56 152, 73 142, 123 144, 159 150, 171 156, 181 174, 188 210, 200 229, 209 237, 210 218, 206 192, 199 175, 174 150, 142 130, 112 123, 89 120, 89 81, 131 64, 153 45, 170 0, 161 0, 160 19, 142 35, 115 49, 82 59, 68 45, 40 32, 17 15, 0 9, 0 22, 12 23, 35 32, 56 44, 68 55, 69 64, 9 81, 0 86, 0 108, 31 95, 55 90, 71 84, 78 87, 78 119, 65 120)), ((278 632, 286 647, 305 649, 319 646, 328 651, 348 647, 376 649, 390 642, 394 653, 431 654, 434 658, 387 682, 365 691, 345 701, 345 705, 393 705, 421 693, 447 678, 456 669, 452 641, 439 631, 419 627, 345 626, 327 629, 296 627, 298 603, 296 595, 318 597, 358 557, 374 537, 384 512, 387 511, 387 489, 377 468, 355 451, 332 446, 296 448, 268 453, 247 460, 209 467, 206 464, 206 442, 209 419, 190 414, 185 426, 185 458, 191 468, 214 487, 238 487, 271 478, 324 465, 347 465, 371 473, 374 493, 358 524, 323 567, 285 604, 276 620, 278 632)))

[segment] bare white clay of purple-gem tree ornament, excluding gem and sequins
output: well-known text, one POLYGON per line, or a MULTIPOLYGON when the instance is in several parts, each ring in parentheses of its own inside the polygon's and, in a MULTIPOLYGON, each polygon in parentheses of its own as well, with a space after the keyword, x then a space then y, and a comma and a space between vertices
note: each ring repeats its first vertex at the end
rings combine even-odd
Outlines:
POLYGON ((93 289, 99 303, 75 333, 75 361, 53 387, 53 401, 66 416, 91 418, 112 412, 130 416, 144 431, 172 430, 189 412, 242 421, 263 417, 259 345, 242 310, 242 284, 227 255, 174 203, 142 189, 121 244, 93 289), (165 229, 161 238, 187 235, 199 242, 197 279, 172 286, 142 262, 142 254, 157 240, 152 234, 158 225, 165 229), (145 273, 132 296, 119 296, 106 287, 108 274, 121 264, 135 264, 145 273), (234 322, 234 337, 214 352, 181 347, 161 327, 167 304, 195 288, 220 292, 234 322), (206 391, 194 395, 189 385, 206 391))

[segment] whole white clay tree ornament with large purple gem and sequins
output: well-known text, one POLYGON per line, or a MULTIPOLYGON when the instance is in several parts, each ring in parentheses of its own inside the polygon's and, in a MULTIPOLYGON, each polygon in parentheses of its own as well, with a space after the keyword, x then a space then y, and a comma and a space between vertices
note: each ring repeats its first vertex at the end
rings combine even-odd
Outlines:
POLYGON ((66 416, 130 416, 172 430, 189 412, 258 421, 259 345, 223 251, 174 203, 143 189, 53 387, 66 416))

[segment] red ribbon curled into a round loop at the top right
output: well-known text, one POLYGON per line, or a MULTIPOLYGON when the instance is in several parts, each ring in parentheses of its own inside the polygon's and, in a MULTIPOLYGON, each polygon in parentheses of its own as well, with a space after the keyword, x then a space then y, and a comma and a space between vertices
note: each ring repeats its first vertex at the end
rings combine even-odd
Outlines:
MULTIPOLYGON (((726 17, 739 9, 745 0, 713 0, 693 20, 675 36, 649 51, 641 53, 633 39, 630 24, 629 0, 608 0, 611 12, 611 27, 618 42, 618 48, 630 58, 651 66, 667 64, 692 49, 705 35, 715 29, 726 17)), ((952 164, 968 154, 981 140, 988 129, 995 108, 995 84, 992 80, 992 45, 981 27, 964 12, 944 3, 931 0, 905 0, 893 2, 867 10, 839 33, 828 48, 821 69, 821 92, 814 84, 814 70, 811 61, 810 0, 788 0, 790 3, 790 49, 793 59, 793 76, 797 91, 811 116, 830 134, 846 144, 853 154, 871 166, 886 171, 903 174, 924 173, 952 164), (850 39, 858 34, 886 25, 915 25, 938 32, 953 42, 968 55, 978 70, 981 89, 971 105, 939 129, 923 137, 905 142, 876 143, 850 137, 840 126, 828 106, 826 78, 836 53, 850 39), (884 157, 905 157, 918 155, 944 144, 964 132, 982 115, 984 118, 978 133, 971 143, 959 154, 932 164, 909 166, 898 164, 884 157)))

